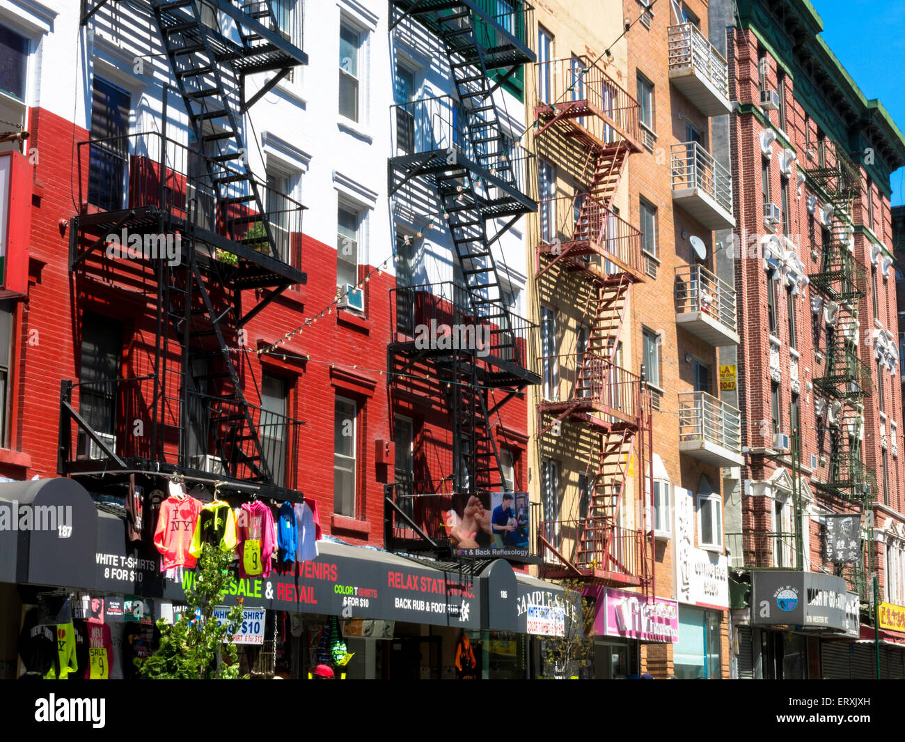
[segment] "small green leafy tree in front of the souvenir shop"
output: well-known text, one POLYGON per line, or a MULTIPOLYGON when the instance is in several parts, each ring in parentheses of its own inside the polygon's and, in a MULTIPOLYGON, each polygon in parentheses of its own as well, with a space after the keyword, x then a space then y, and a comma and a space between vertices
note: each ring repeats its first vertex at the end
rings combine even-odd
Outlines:
POLYGON ((242 624, 242 605, 235 605, 223 624, 214 618, 214 608, 224 599, 233 580, 232 552, 205 544, 198 560, 195 585, 186 592, 188 607, 172 626, 157 622, 160 646, 139 664, 148 679, 238 679, 238 652, 233 630, 242 624), (222 658, 217 666, 217 657, 222 658))

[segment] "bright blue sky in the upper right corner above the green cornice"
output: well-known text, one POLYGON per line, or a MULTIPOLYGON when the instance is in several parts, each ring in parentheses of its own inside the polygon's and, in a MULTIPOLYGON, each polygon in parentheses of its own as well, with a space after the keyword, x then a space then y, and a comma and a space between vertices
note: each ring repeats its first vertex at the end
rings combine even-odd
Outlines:
MULTIPOLYGON (((905 3, 811 0, 824 20, 824 41, 871 100, 879 98, 905 131, 905 3)), ((892 174, 892 205, 905 203, 905 168, 892 174)))

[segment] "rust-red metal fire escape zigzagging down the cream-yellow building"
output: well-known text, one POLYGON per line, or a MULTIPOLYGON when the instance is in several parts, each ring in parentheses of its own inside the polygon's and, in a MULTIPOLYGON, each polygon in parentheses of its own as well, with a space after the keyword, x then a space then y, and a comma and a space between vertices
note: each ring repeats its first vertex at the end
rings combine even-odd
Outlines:
POLYGON ((594 441, 586 512, 541 522, 538 553, 545 576, 653 594, 653 537, 643 524, 653 491, 651 399, 643 377, 619 366, 617 350, 632 285, 644 280, 640 233, 613 203, 628 156, 641 150, 638 103, 586 58, 538 63, 536 70, 535 143, 546 139, 551 150, 577 154, 587 188, 540 202, 535 276, 538 285, 578 277, 590 320, 576 353, 543 349, 538 444, 548 445, 564 422, 594 441), (632 491, 635 529, 620 520, 632 491))

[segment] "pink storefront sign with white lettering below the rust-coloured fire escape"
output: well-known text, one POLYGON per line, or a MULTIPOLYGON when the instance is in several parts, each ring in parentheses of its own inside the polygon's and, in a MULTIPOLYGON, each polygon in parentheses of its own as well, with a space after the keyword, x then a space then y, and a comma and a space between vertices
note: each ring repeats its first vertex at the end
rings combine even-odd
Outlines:
MULTIPOLYGON (((593 590, 593 589, 592 589, 593 590)), ((594 632, 641 641, 679 641, 679 603, 612 587, 596 591, 594 632)))

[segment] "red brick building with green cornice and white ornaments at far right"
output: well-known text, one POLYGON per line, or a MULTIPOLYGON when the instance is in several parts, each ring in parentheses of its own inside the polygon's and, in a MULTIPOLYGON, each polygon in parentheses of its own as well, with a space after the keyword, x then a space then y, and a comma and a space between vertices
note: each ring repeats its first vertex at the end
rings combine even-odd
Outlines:
MULTIPOLYGON (((728 59, 745 459, 727 492, 726 530, 734 579, 753 583, 749 603, 734 603, 751 607, 733 616, 751 624, 738 626, 738 675, 877 677, 861 648, 850 666, 840 637, 859 635, 859 602, 861 622, 878 620, 873 573, 879 601, 900 601, 905 493, 889 199, 905 140, 820 38, 813 8, 737 7, 728 59), (834 516, 853 516, 855 554, 846 559, 824 546, 840 523, 834 516), (836 581, 827 589, 844 599, 844 621, 834 631, 771 630, 790 621, 771 618, 769 600, 757 612, 758 582, 782 574, 806 585, 813 573, 836 581)), ((883 651, 882 671, 900 677, 900 652, 883 651)))

